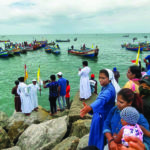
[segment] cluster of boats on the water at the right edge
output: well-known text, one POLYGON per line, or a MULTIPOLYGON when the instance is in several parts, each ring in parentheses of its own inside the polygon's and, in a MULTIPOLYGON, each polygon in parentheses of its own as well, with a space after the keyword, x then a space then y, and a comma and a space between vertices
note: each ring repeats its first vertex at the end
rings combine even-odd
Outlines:
POLYGON ((126 48, 126 50, 130 51, 138 51, 140 46, 140 51, 150 51, 150 43, 148 42, 140 42, 138 44, 124 43, 121 45, 122 48, 126 48))

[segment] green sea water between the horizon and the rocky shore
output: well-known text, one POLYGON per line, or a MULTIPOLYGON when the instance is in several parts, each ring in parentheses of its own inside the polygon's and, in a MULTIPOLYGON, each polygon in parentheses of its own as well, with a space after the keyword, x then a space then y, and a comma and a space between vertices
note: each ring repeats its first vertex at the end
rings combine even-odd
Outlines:
MULTIPOLYGON (((44 49, 27 52, 20 56, 10 57, 8 59, 0 58, 0 111, 6 112, 9 116, 14 112, 14 95, 11 94, 12 88, 15 86, 14 81, 20 76, 24 76, 24 65, 27 66, 28 80, 27 84, 32 83, 37 78, 37 71, 40 65, 40 76, 42 80, 48 80, 50 75, 62 72, 63 77, 69 80, 71 86, 71 99, 77 91, 79 91, 80 78, 78 69, 82 68, 82 61, 87 60, 91 68, 91 74, 95 74, 98 81, 99 70, 104 68, 113 69, 117 67, 120 72, 119 84, 122 87, 127 82, 126 73, 128 67, 132 65, 130 60, 136 58, 137 52, 127 51, 121 48, 122 43, 133 43, 133 37, 138 40, 135 43, 150 41, 149 38, 144 39, 150 34, 129 34, 129 37, 123 37, 124 34, 56 34, 56 35, 6 35, 0 36, 0 40, 10 40, 13 42, 28 43, 33 40, 48 40, 48 42, 56 39, 66 40, 70 42, 58 43, 61 48, 61 54, 56 56, 49 54, 44 49), (77 37, 77 41, 73 39, 77 37), (85 44, 86 47, 92 48, 92 45, 99 47, 99 55, 95 59, 74 56, 68 54, 68 48, 74 45, 75 49, 85 44)), ((140 54, 142 65, 145 67, 143 59, 149 52, 140 54)), ((58 78, 57 78, 58 79, 58 78)), ((98 92, 100 92, 100 84, 98 82, 98 92)), ((48 89, 42 88, 41 96, 38 93, 39 105, 49 110, 48 89)))

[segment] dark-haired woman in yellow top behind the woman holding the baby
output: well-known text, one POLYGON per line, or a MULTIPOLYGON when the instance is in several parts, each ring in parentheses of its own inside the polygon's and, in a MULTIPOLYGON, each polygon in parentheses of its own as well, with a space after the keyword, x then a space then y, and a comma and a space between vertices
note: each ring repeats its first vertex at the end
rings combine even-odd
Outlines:
POLYGON ((127 78, 129 81, 123 88, 129 88, 135 93, 139 93, 139 80, 141 79, 141 69, 138 66, 130 66, 127 72, 127 78))

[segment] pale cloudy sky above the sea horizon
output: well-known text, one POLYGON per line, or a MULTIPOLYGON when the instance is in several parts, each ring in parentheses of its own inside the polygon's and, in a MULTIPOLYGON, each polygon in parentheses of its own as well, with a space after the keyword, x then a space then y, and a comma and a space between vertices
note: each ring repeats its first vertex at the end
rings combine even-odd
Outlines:
POLYGON ((150 0, 0 2, 1 35, 150 32, 150 0))

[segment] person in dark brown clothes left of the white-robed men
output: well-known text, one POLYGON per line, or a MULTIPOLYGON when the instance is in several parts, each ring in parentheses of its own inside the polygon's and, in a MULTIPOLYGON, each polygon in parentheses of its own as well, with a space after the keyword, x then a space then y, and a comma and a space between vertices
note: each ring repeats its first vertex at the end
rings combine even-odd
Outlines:
POLYGON ((13 87, 11 93, 15 95, 14 102, 15 102, 15 110, 16 110, 16 112, 21 112, 21 100, 20 100, 20 96, 17 94, 17 88, 18 88, 18 85, 19 85, 19 81, 16 80, 15 84, 16 84, 16 86, 13 87))

